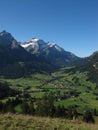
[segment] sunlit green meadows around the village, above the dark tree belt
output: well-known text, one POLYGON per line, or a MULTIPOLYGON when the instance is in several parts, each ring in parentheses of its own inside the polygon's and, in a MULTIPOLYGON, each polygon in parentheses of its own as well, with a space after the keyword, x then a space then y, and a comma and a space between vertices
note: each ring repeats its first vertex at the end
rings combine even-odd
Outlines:
POLYGON ((98 89, 95 89, 96 84, 87 80, 87 73, 76 71, 75 73, 66 73, 67 68, 61 69, 58 72, 48 74, 33 74, 30 78, 20 79, 1 79, 7 81, 10 86, 19 90, 26 91, 32 97, 41 98, 46 91, 59 93, 58 100, 55 105, 64 105, 69 107, 77 105, 79 111, 83 111, 85 107, 98 110, 98 100, 96 100, 98 89), (60 88, 63 85, 63 88, 60 88), (55 88, 55 86, 59 86, 55 88), (70 94, 72 93, 73 94, 70 94), (78 96, 74 93, 78 92, 78 96), (66 99, 62 99, 67 95, 66 99))

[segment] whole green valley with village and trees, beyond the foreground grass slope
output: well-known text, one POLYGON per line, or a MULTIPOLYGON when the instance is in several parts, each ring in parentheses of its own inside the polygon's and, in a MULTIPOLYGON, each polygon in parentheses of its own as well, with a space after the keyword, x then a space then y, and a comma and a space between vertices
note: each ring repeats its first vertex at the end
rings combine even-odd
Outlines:
MULTIPOLYGON (((32 110, 34 109, 33 115, 47 116, 49 113, 42 115, 37 113, 39 110, 39 108, 37 110, 37 107, 40 105, 40 109, 43 109, 43 103, 48 103, 48 105, 50 103, 50 106, 53 105, 54 109, 56 111, 59 110, 60 113, 60 109, 64 107, 65 114, 64 112, 63 114, 65 118, 69 118, 66 116, 66 112, 68 110, 73 111, 73 109, 77 111, 78 118, 83 116, 86 110, 90 110, 93 116, 97 116, 98 88, 96 88, 96 83, 88 80, 87 72, 80 72, 78 70, 73 73, 72 69, 73 67, 65 67, 51 74, 35 73, 28 78, 1 78, 1 82, 7 82, 11 88, 18 92, 14 96, 9 95, 1 99, 2 102, 7 102, 7 104, 10 101, 16 102, 13 105, 13 109, 8 108, 5 112, 30 114, 30 112, 26 111, 27 108, 25 107, 27 107, 26 105, 32 104, 32 110)), ((45 113, 46 109, 44 108, 43 110, 45 113)), ((57 115, 56 111, 54 115, 48 116, 62 117, 61 115, 57 115)), ((42 111, 40 112, 42 113, 42 111)))

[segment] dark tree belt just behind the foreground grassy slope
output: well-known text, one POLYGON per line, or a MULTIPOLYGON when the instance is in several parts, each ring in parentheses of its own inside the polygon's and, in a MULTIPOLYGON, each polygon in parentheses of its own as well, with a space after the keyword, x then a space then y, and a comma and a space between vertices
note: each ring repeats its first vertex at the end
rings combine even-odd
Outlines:
POLYGON ((0 112, 17 113, 15 107, 20 106, 22 114, 44 117, 61 117, 67 119, 77 119, 82 116, 83 121, 94 123, 93 115, 97 115, 97 110, 93 112, 86 109, 83 114, 77 111, 77 105, 65 108, 64 105, 55 106, 53 92, 45 93, 42 98, 32 98, 29 94, 17 95, 16 98, 8 98, 6 102, 0 101, 0 112))

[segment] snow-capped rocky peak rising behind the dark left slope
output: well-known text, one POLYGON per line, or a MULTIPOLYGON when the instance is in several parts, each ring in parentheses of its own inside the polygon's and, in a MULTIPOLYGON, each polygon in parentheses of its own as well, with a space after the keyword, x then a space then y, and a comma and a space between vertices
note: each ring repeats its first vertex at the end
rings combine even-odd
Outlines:
POLYGON ((65 66, 78 59, 71 52, 67 52, 53 42, 45 42, 38 38, 32 38, 28 42, 24 42, 21 46, 28 52, 44 58, 49 63, 56 66, 65 66))

